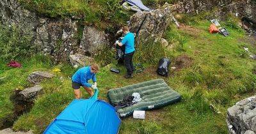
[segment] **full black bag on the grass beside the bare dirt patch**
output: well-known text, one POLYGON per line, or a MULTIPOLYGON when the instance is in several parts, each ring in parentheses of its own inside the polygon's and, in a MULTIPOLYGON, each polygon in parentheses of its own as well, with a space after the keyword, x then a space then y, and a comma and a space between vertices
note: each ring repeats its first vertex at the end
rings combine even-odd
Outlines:
POLYGON ((157 68, 157 74, 168 77, 168 71, 169 71, 169 66, 171 64, 170 59, 163 57, 162 59, 159 60, 158 63, 158 68, 157 68))

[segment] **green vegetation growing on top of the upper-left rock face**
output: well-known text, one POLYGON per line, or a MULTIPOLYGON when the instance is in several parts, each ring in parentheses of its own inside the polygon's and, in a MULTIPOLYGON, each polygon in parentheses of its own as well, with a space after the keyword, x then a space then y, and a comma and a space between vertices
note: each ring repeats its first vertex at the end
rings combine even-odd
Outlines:
POLYGON ((125 11, 119 0, 19 0, 28 10, 47 17, 81 18, 84 24, 97 27, 115 27, 125 24, 131 13, 125 11))

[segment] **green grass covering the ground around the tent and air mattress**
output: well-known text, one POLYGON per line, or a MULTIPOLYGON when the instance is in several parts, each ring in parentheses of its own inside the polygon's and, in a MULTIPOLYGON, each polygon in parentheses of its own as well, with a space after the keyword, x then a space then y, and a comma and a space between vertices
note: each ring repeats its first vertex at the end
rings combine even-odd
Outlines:
MULTIPOLYGON (((221 23, 222 24, 222 23, 221 23)), ((140 45, 134 55, 136 63, 143 63, 145 71, 135 74, 132 79, 125 79, 124 66, 117 66, 121 73, 115 74, 109 68, 115 66, 113 51, 109 55, 99 54, 97 60, 108 64, 100 68, 97 74, 99 98, 108 101, 107 92, 111 88, 127 86, 154 78, 164 78, 166 83, 179 92, 182 100, 158 110, 146 112, 145 120, 132 117, 122 119, 120 133, 228 133, 225 123, 227 108, 239 100, 255 94, 256 63, 244 52, 243 47, 255 53, 253 46, 244 40, 243 31, 236 27, 225 25, 230 36, 209 34, 209 22, 198 21, 192 26, 177 29, 170 26, 164 38, 174 45, 168 50, 156 44, 140 45), (169 77, 156 74, 158 60, 170 57, 175 65, 179 56, 188 56, 193 64, 179 71, 170 71, 169 77), (108 59, 107 61, 100 60, 108 59), (216 114, 211 105, 220 111, 216 114)), ((0 121, 12 115, 13 105, 9 100, 15 88, 24 89, 31 86, 26 78, 32 71, 45 70, 54 73, 54 68, 60 68, 56 77, 42 83, 44 94, 38 96, 31 112, 23 114, 17 119, 15 130, 34 130, 42 133, 45 128, 67 107, 74 99, 70 77, 76 71, 70 65, 62 63, 54 65, 45 56, 35 56, 31 59, 20 59, 22 68, 9 68, 1 61, 0 77, 6 76, 1 82, 1 110, 0 121), (13 77, 15 74, 15 77, 13 77)), ((88 98, 83 91, 83 98, 88 98)))

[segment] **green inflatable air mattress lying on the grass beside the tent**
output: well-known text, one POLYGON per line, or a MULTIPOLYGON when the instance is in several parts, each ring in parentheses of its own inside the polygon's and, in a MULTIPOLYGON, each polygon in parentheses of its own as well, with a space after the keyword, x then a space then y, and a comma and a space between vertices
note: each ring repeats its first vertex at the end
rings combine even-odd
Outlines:
POLYGON ((151 110, 170 105, 180 100, 180 94, 170 88, 163 79, 150 80, 131 86, 109 89, 108 98, 112 105, 117 105, 124 96, 139 93, 141 101, 129 107, 120 108, 121 117, 131 115, 134 110, 151 110))

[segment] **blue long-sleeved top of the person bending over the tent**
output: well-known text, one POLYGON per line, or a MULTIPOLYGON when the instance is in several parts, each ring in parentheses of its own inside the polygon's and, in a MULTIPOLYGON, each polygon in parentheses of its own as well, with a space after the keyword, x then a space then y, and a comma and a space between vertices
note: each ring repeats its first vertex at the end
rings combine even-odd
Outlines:
POLYGON ((88 83, 88 80, 92 78, 93 82, 96 82, 95 73, 91 72, 91 66, 85 66, 76 71, 72 76, 72 81, 81 84, 82 86, 92 87, 92 84, 88 83))

